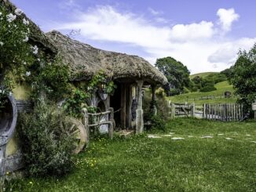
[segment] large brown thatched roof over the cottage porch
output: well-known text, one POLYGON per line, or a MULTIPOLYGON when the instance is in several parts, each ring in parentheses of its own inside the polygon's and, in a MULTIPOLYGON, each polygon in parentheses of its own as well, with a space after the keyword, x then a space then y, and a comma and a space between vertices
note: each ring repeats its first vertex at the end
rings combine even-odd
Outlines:
POLYGON ((98 71, 105 71, 112 79, 144 79, 149 83, 163 85, 167 82, 160 71, 139 56, 96 49, 58 31, 46 35, 52 38, 64 62, 68 63, 74 73, 79 74, 76 80, 88 79, 98 71))

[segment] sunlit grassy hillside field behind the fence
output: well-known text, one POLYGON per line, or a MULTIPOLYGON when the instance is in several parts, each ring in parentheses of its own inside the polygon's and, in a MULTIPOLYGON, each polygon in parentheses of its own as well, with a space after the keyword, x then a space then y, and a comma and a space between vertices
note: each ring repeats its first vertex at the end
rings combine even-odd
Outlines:
POLYGON ((170 96, 168 99, 173 103, 196 103, 198 105, 202 105, 203 103, 236 103, 236 97, 225 98, 225 99, 214 99, 214 100, 189 100, 194 98, 200 98, 205 96, 223 96, 225 91, 234 92, 232 85, 229 85, 229 82, 219 82, 214 85, 217 90, 212 92, 188 92, 185 94, 181 94, 178 96, 170 96))

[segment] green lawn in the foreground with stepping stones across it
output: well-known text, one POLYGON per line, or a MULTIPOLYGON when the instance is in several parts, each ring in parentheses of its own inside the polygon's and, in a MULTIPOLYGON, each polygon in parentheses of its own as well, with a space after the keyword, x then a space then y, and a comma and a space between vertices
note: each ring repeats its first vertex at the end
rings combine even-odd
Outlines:
POLYGON ((68 176, 16 180, 7 191, 256 191, 255 125, 179 118, 150 133, 159 138, 97 139, 68 176))

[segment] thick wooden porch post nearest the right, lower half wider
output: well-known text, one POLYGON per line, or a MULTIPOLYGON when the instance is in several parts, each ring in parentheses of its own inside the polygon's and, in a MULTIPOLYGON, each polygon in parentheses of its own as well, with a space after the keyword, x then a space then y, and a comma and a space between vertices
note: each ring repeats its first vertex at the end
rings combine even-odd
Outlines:
POLYGON ((143 132, 144 120, 143 120, 143 110, 142 110, 142 85, 143 81, 137 81, 137 110, 136 110, 136 132, 143 132))

